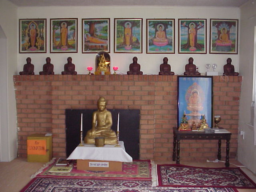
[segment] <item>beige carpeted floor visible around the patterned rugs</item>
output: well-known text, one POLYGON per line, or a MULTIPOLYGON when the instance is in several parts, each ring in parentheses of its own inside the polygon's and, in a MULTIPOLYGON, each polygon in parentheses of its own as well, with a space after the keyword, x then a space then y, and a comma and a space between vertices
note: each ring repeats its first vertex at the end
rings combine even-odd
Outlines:
MULTIPOLYGON (((175 163, 173 161, 155 161, 155 164, 172 164, 175 163)), ((188 166, 200 166, 200 167, 224 167, 224 162, 194 162, 194 161, 181 161, 181 164, 185 164, 188 166)), ((234 167, 234 164, 236 165, 242 165, 240 162, 234 159, 230 159, 230 166, 234 167)), ((26 158, 16 158, 12 160, 11 162, 0 162, 0 191, 1 192, 20 192, 20 190, 28 184, 28 182, 31 181, 30 176, 37 172, 45 163, 36 163, 36 162, 27 162, 26 158)), ((241 168, 254 182, 256 182, 256 175, 253 174, 250 170, 247 168, 241 168)), ((167 189, 167 188, 166 188, 167 189)), ((180 189, 180 188, 178 188, 180 189)), ((160 190, 160 188, 159 188, 160 190)), ((180 189, 184 191, 184 189, 180 189)), ((188 189, 186 192, 195 192, 196 189, 193 189, 194 191, 188 189)), ((199 190, 199 189, 198 189, 199 190)), ((216 192, 213 191, 213 189, 204 189, 202 192, 216 192), (210 191, 212 190, 212 191, 210 191)), ((238 192, 256 192, 256 189, 237 189, 238 192)), ((162 190, 163 191, 163 190, 162 190)), ((162 192, 161 191, 161 192, 162 192)), ((86 191, 87 192, 87 191, 86 191)), ((101 192, 99 190, 99 192, 101 192)), ((103 191, 104 192, 104 191, 103 191)), ((131 191, 127 191, 131 192, 131 191)), ((154 191, 156 192, 156 190, 154 191)), ((174 191, 172 191, 174 192, 174 191)), ((179 192, 179 191, 178 191, 179 192)), ((198 191, 197 191, 198 192, 198 191)), ((221 191, 222 192, 222 191, 221 191)))

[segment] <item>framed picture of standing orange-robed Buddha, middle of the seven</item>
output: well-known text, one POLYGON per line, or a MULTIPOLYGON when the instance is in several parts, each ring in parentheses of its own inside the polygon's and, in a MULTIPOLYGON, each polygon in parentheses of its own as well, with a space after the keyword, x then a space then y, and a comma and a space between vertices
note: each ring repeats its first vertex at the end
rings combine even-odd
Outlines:
POLYGON ((114 52, 142 53, 142 18, 114 18, 114 52))

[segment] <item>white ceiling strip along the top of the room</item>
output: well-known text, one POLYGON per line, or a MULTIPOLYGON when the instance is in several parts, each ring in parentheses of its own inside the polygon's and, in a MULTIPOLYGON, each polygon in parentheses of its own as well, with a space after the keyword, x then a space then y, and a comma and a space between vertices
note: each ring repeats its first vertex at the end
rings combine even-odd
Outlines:
POLYGON ((16 6, 222 6, 239 7, 249 0, 9 0, 16 6))

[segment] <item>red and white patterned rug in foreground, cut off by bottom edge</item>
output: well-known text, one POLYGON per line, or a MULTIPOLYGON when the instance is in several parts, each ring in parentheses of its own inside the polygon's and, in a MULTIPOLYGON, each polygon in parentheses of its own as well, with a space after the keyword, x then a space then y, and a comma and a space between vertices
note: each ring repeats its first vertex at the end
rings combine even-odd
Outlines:
POLYGON ((37 177, 20 192, 238 192, 232 188, 151 187, 148 181, 37 177))

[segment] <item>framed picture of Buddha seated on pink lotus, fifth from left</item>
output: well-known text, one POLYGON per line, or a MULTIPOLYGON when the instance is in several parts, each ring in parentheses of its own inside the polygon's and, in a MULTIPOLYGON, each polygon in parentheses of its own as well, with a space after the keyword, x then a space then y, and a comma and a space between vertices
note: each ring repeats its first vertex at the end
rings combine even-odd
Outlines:
POLYGON ((175 19, 147 19, 147 53, 175 53, 175 19))

